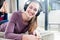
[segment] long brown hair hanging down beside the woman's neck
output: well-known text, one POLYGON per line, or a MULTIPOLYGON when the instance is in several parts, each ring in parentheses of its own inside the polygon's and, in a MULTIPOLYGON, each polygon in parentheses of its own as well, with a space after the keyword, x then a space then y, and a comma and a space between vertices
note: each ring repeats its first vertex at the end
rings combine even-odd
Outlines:
POLYGON ((32 33, 37 28, 37 16, 33 17, 29 22, 28 33, 32 33))

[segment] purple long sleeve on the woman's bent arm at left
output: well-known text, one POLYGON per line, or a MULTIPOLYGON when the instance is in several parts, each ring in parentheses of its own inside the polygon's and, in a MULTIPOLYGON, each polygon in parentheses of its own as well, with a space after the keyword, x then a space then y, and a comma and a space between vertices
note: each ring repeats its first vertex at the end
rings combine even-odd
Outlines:
POLYGON ((13 13, 7 27, 5 30, 5 38, 8 39, 15 39, 15 40, 22 40, 22 34, 14 34, 14 26, 15 26, 15 20, 16 20, 16 13, 13 13))

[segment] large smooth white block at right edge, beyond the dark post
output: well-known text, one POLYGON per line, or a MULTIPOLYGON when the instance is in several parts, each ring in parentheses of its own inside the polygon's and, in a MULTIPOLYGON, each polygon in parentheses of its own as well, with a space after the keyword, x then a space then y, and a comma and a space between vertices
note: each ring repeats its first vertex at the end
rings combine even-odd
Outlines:
POLYGON ((48 13, 49 23, 60 23, 60 10, 52 10, 48 13))

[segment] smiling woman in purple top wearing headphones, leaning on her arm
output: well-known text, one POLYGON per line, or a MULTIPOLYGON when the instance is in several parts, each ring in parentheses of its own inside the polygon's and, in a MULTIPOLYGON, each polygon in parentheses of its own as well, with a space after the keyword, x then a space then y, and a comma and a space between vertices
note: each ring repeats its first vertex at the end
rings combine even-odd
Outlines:
POLYGON ((13 40, 39 40, 33 34, 37 28, 37 16, 41 11, 41 4, 38 1, 28 1, 24 6, 24 12, 14 12, 6 29, 5 38, 13 40), (25 32, 29 35, 24 34, 25 32))

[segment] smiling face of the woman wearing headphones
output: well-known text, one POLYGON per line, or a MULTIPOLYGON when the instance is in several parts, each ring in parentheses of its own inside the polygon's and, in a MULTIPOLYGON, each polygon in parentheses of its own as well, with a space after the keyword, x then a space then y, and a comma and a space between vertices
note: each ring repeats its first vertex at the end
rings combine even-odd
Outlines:
POLYGON ((31 2, 26 9, 27 16, 30 18, 34 17, 37 14, 38 9, 39 9, 39 4, 35 2, 31 2))

